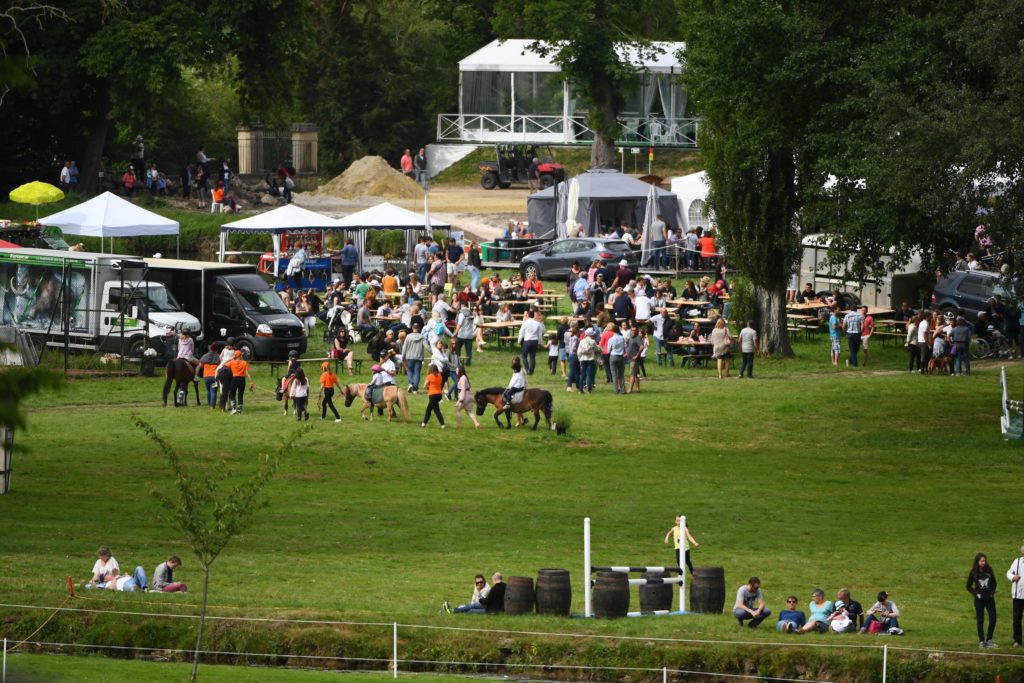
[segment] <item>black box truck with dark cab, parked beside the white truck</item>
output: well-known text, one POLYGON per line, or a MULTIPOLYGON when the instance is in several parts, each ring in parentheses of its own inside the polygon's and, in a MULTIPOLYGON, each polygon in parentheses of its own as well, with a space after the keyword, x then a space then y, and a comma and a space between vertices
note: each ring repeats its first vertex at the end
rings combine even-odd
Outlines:
POLYGON ((182 307, 203 324, 206 345, 229 337, 248 358, 286 358, 305 353, 302 322, 254 265, 145 259, 148 278, 164 283, 182 307))

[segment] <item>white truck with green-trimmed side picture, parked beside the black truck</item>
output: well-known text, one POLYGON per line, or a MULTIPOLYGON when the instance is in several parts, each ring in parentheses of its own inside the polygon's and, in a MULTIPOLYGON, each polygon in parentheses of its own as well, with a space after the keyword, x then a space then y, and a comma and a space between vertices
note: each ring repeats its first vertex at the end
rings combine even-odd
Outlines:
POLYGON ((50 346, 165 358, 177 333, 202 326, 132 256, 50 249, 0 249, 0 325, 50 346))

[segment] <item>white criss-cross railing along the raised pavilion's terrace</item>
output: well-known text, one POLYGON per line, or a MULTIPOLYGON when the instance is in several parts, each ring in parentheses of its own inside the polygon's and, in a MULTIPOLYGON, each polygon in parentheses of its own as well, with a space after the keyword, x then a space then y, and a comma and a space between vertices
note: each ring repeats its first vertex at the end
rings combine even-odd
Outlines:
MULTIPOLYGON (((699 119, 651 117, 620 119, 618 144, 696 146, 699 119)), ((437 140, 454 142, 549 142, 589 144, 594 139, 585 115, 520 116, 511 114, 439 114, 437 140)))

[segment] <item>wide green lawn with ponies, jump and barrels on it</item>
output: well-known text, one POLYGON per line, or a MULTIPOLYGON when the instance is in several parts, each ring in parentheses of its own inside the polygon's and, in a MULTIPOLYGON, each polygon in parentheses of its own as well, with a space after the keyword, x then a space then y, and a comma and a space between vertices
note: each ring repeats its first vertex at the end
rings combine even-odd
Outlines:
MULTIPOLYGON (((920 377, 900 372, 902 349, 894 346, 872 350, 866 370, 834 369, 821 338, 799 341, 796 350, 795 360, 759 360, 755 381, 718 381, 708 369, 658 369, 650 358, 650 381, 625 397, 611 395, 601 379, 592 396, 566 394, 557 376, 539 370, 531 384, 552 389, 556 411, 572 416, 561 438, 498 431, 489 413, 483 429, 456 431, 451 403, 444 403, 449 429, 422 430, 416 426, 422 395, 411 399, 412 425, 364 423, 353 409, 341 409, 341 425, 314 420, 271 484, 270 507, 214 566, 212 613, 611 637, 402 629, 399 656, 433 661, 667 666, 858 680, 877 676, 878 650, 808 645, 977 651, 963 588, 971 559, 987 552, 1001 575, 1020 544, 1015 511, 1024 461, 1020 444, 999 436, 996 369, 978 367, 970 378, 920 377), (670 561, 662 539, 677 512, 688 515, 701 543, 694 563, 725 568, 727 602, 751 574, 762 578, 776 611, 788 593, 806 602, 815 586, 829 597, 849 586, 865 606, 885 589, 903 611, 907 635, 797 639, 768 624, 737 631, 727 615, 600 622, 439 611, 441 600, 468 598, 476 571, 536 575, 548 566, 570 569, 573 610, 582 611, 583 517, 594 520, 595 562, 659 564, 670 561), (764 647, 616 636, 740 639, 764 647), (793 647, 774 648, 778 643, 793 647)), ((470 368, 474 386, 504 385, 510 357, 489 345, 470 368)), ((1021 386, 1024 368, 1012 366, 1011 373, 1021 386)), ((143 564, 150 572, 177 553, 185 560, 179 579, 195 588, 199 571, 185 540, 146 493, 151 482, 169 484, 165 463, 128 417, 151 421, 194 454, 197 467, 224 461, 245 470, 295 427, 268 392, 266 366, 257 367, 256 381, 239 417, 162 409, 156 378, 74 381, 33 399, 31 430, 17 437, 28 451, 15 459, 11 493, 0 497, 4 601, 58 604, 65 578, 84 580, 101 543, 122 565, 143 564)), ((996 640, 1008 645, 1004 594, 1000 588, 996 640)), ((197 598, 90 593, 72 604, 195 613, 197 598)), ((634 607, 636 600, 634 592, 634 607)), ((25 638, 46 615, 4 608, 0 636, 25 638)), ((182 620, 61 614, 37 638, 187 649, 194 628, 182 620)), ((296 664, 289 654, 390 656, 386 626, 221 622, 209 633, 207 649, 281 653, 273 664, 296 664)), ((890 677, 981 680, 997 671, 1016 680, 1024 671, 1016 657, 989 661, 891 650, 890 677)))

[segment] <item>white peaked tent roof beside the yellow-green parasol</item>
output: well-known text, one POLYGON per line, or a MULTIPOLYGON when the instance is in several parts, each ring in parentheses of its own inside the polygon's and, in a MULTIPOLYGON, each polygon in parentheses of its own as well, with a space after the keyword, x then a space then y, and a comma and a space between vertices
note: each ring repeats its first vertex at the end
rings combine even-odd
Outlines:
POLYGON ((103 193, 51 216, 40 218, 43 225, 55 225, 65 234, 90 238, 134 238, 177 234, 178 221, 146 211, 112 193, 103 193))

